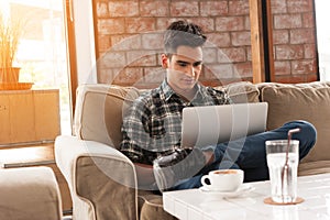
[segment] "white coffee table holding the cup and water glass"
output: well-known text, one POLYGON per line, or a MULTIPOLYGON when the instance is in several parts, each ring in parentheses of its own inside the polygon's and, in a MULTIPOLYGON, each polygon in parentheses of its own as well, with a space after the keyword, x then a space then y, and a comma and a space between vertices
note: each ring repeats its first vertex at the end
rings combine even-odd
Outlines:
POLYGON ((254 189, 235 198, 200 189, 163 194, 164 209, 182 220, 330 220, 330 174, 298 177, 299 205, 265 205, 270 182, 250 183, 254 189))

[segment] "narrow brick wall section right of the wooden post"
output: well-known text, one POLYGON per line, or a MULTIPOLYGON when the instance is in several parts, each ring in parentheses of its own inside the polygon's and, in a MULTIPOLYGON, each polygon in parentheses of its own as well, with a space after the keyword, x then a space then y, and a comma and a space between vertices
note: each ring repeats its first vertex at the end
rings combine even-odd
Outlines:
POLYGON ((317 80, 314 0, 272 2, 276 81, 317 80))

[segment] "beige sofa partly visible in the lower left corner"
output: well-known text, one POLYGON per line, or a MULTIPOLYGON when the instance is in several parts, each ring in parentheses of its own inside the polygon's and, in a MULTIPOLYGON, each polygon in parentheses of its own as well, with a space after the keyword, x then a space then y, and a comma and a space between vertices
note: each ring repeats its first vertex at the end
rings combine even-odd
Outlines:
POLYGON ((61 194, 52 168, 0 168, 1 220, 62 218, 61 194))

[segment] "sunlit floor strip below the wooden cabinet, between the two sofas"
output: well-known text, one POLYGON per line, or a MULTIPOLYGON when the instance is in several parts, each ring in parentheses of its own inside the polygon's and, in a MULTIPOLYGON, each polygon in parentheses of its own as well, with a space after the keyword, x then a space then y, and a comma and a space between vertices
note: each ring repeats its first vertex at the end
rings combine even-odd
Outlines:
POLYGON ((0 165, 1 168, 51 167, 59 186, 64 215, 72 215, 73 202, 69 189, 64 176, 56 166, 53 143, 0 146, 0 165))

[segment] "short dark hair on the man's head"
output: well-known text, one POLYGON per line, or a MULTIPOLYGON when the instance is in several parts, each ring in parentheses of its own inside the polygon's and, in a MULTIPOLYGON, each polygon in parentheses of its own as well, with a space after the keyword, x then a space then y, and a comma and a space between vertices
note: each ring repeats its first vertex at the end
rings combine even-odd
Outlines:
POLYGON ((207 36, 200 26, 187 21, 173 22, 164 34, 164 47, 166 54, 176 53, 178 46, 202 46, 207 36))

